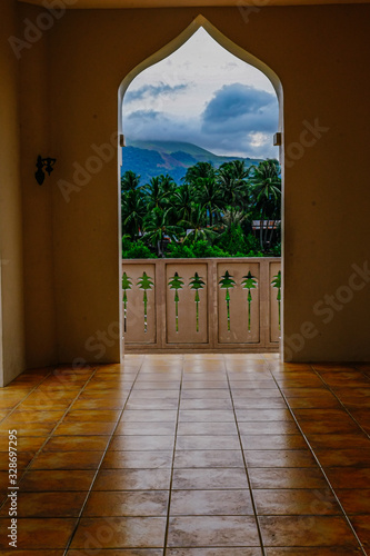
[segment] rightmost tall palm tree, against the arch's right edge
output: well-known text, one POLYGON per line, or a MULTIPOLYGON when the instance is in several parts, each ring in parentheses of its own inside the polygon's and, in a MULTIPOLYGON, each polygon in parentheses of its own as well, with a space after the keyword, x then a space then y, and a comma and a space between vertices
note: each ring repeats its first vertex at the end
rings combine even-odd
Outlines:
MULTIPOLYGON (((263 222, 266 218, 276 220, 280 216, 281 178, 278 160, 263 160, 258 167, 254 167, 250 185, 256 207, 260 214, 260 244, 261 248, 264 249, 268 242, 268 227, 263 238, 263 222)), ((274 222, 272 232, 273 228, 274 222)))

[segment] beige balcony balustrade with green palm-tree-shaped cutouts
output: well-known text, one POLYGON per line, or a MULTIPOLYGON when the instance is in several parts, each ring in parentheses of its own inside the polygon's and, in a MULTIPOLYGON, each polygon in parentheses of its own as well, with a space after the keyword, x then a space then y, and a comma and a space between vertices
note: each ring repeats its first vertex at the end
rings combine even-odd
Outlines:
POLYGON ((279 258, 122 262, 126 353, 278 351, 279 258))

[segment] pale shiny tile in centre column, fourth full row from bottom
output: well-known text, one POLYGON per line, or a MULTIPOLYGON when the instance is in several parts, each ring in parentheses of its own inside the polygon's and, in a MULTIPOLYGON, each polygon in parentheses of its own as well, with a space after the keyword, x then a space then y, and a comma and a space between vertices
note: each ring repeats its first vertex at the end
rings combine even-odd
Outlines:
POLYGON ((177 450, 173 467, 189 469, 193 467, 244 467, 244 463, 240 449, 177 450))

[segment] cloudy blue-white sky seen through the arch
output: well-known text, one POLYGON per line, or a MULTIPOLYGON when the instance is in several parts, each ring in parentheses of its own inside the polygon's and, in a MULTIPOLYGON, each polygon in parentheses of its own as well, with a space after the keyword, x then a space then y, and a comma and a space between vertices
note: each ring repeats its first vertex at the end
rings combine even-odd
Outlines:
POLYGON ((277 130, 271 82, 202 28, 133 79, 123 98, 127 140, 187 141, 217 155, 277 158, 277 130))

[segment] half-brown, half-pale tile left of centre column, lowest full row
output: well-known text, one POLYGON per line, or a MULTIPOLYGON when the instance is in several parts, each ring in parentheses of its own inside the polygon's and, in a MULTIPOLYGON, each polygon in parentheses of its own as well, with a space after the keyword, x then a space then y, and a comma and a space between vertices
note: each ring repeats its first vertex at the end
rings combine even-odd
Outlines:
POLYGON ((87 537, 98 537, 101 548, 158 548, 163 546, 164 529, 163 517, 82 518, 71 548, 84 548, 87 537))

